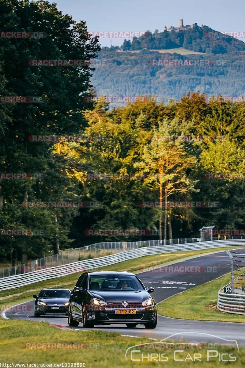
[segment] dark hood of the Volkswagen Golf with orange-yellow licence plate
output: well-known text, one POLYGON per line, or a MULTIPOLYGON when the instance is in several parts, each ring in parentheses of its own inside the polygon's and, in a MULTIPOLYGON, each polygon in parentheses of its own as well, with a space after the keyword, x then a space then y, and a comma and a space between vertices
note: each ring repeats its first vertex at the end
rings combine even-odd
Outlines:
POLYGON ((142 302, 143 300, 150 297, 149 293, 146 290, 114 290, 114 291, 100 291, 100 290, 89 290, 90 294, 94 298, 102 299, 104 301, 135 301, 142 302))

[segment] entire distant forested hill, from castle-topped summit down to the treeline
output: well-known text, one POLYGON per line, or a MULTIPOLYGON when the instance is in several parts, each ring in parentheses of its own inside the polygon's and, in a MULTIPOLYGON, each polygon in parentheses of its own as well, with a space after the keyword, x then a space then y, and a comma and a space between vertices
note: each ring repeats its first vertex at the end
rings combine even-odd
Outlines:
POLYGON ((111 107, 123 106, 123 96, 156 96, 167 102, 189 91, 235 100, 244 96, 245 43, 234 37, 205 25, 147 31, 132 42, 125 39, 120 50, 102 47, 91 81, 98 96, 108 96, 108 102, 114 98, 111 107), (197 64, 186 66, 185 59, 197 64))

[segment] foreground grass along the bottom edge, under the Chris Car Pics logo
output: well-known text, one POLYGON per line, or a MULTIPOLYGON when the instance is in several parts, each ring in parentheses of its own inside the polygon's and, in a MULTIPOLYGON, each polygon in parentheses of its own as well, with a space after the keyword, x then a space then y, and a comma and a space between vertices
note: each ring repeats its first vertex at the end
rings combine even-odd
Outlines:
MULTIPOLYGON (((77 364, 85 363, 87 368, 163 367, 164 363, 166 363, 165 366, 168 368, 176 368, 176 365, 179 365, 179 362, 174 361, 173 349, 157 349, 152 344, 154 343, 153 340, 144 337, 134 338, 104 331, 83 331, 82 328, 80 330, 61 330, 45 322, 6 321, 3 319, 0 319, 0 330, 1 336, 4 337, 4 341, 0 341, 1 362, 10 364, 10 367, 12 363, 44 364, 42 367, 45 367, 45 364, 55 363, 63 363, 63 367, 65 367, 65 364, 67 364, 66 367, 75 367, 74 364, 76 364, 76 367, 81 367, 81 365, 78 366, 77 364), (36 343, 42 343, 42 345, 36 345, 36 343), (47 349, 47 343, 66 343, 69 348, 47 349), (144 358, 143 361, 132 361, 130 353, 127 355, 126 360, 125 353, 127 348, 143 343, 149 343, 147 349, 143 350, 141 348, 143 356, 149 357, 149 359, 154 357, 155 360, 148 361, 147 358, 144 358), (82 348, 71 348, 72 346, 79 346, 75 344, 80 344, 82 348), (32 348, 26 348, 26 346, 32 348), (165 361, 156 360, 156 357, 159 359, 159 355, 161 358, 161 354, 165 354, 165 361)), ((127 330, 125 329, 126 333, 127 330)), ((190 348, 187 348, 182 350, 182 353, 177 353, 176 359, 184 360, 188 354, 193 359, 194 353, 198 353, 201 354, 201 361, 195 362, 198 368, 215 368, 217 365, 219 367, 227 366, 227 362, 223 363, 223 365, 222 362, 219 362, 218 357, 212 358, 208 362, 206 346, 202 349, 190 350, 190 348)), ((236 361, 232 362, 232 366, 235 368, 241 368, 245 363, 245 348, 239 348, 239 353, 235 347, 229 346, 219 346, 216 350, 219 353, 233 354, 237 358, 236 361)), ((141 353, 134 353, 132 357, 133 359, 142 359, 141 353)), ((187 362, 189 364, 192 362, 189 356, 181 367, 187 367, 187 362)), ((28 366, 26 365, 26 367, 28 366)))

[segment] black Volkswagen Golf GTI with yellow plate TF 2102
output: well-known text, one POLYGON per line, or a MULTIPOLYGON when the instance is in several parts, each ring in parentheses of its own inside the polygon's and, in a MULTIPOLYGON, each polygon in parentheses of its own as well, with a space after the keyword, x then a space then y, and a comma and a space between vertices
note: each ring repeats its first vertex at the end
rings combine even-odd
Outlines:
POLYGON ((123 323, 155 328, 156 302, 140 279, 129 272, 84 272, 68 305, 68 325, 83 327, 123 323))

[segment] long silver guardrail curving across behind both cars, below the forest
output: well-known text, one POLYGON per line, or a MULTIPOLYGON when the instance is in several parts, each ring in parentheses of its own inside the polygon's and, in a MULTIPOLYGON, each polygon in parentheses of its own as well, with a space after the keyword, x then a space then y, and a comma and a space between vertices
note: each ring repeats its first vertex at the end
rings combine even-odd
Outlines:
POLYGON ((138 248, 136 250, 120 252, 100 258, 93 258, 84 261, 69 263, 67 265, 49 267, 33 272, 22 273, 21 275, 3 277, 0 279, 0 290, 14 289, 16 287, 25 286, 39 281, 71 275, 72 273, 76 272, 85 272, 86 270, 91 271, 97 268, 101 269, 101 267, 103 266, 114 265, 115 263, 127 261, 129 259, 134 259, 145 255, 161 254, 163 252, 170 253, 209 248, 222 248, 229 246, 244 247, 245 240, 216 240, 189 244, 172 244, 138 248))

